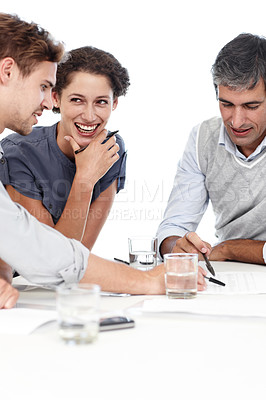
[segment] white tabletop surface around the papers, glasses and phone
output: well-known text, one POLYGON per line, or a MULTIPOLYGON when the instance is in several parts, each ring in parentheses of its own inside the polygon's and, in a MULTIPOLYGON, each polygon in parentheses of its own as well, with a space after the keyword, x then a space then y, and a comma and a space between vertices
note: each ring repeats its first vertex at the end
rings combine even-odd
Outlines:
MULTIPOLYGON (((266 273, 259 265, 213 265, 218 272, 266 273)), ((259 296, 266 307, 266 295, 245 295, 243 301, 247 296, 259 296)), ((128 308, 152 297, 103 297, 101 308, 132 315, 128 308)), ((21 292, 22 304, 53 307, 55 293, 21 292)), ((135 328, 101 332, 88 345, 65 345, 55 323, 28 336, 0 335, 1 400, 265 398, 266 318, 180 313, 133 318, 135 328)))

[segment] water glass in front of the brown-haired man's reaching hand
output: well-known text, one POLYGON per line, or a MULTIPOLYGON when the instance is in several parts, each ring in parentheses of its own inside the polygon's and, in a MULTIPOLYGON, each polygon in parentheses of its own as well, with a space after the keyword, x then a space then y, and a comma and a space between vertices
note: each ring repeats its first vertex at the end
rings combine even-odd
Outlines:
POLYGON ((198 255, 171 253, 164 255, 165 289, 168 298, 189 299, 197 295, 198 255))

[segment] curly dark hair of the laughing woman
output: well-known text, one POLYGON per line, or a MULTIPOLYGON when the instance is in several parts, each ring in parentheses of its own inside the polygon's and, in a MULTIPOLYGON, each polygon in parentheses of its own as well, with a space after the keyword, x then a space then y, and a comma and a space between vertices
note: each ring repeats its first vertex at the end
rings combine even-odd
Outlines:
MULTIPOLYGON (((59 63, 56 85, 53 88, 59 97, 63 89, 71 83, 71 76, 74 72, 89 72, 106 76, 115 98, 124 96, 130 85, 127 69, 122 67, 112 54, 92 46, 69 51, 59 63)), ((59 113, 60 109, 54 107, 53 111, 59 113)))

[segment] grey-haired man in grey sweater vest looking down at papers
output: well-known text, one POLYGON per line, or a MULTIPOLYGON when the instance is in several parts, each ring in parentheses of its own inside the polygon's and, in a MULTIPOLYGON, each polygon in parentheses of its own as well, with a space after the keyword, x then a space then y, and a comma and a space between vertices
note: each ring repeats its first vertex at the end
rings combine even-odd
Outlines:
POLYGON ((191 132, 158 228, 160 253, 265 264, 266 38, 238 35, 219 52, 212 76, 221 118, 191 132), (209 200, 213 247, 195 232, 209 200))

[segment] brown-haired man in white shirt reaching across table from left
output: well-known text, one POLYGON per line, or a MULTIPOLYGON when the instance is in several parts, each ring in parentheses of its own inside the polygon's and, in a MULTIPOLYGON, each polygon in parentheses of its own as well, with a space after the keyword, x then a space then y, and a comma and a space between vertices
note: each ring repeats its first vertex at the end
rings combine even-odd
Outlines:
MULTIPOLYGON (((48 32, 19 17, 0 13, 0 132, 5 128, 28 135, 37 118, 52 109, 51 91, 57 63, 64 48, 48 32)), ((70 140, 72 150, 79 144, 70 140)), ((118 159, 118 146, 103 145, 106 171, 118 159)), ((6 165, 3 152, 1 163, 6 165)), ((8 168, 8 166, 6 166, 8 168)), ((105 172, 106 172, 105 171, 105 172)), ((104 260, 82 243, 67 238, 39 222, 20 204, 14 203, 0 184, 0 306, 12 307, 18 292, 12 288, 12 269, 41 284, 97 283, 102 290, 132 294, 165 293, 164 267, 143 272, 104 260)), ((198 274, 199 289, 205 287, 198 274)))

